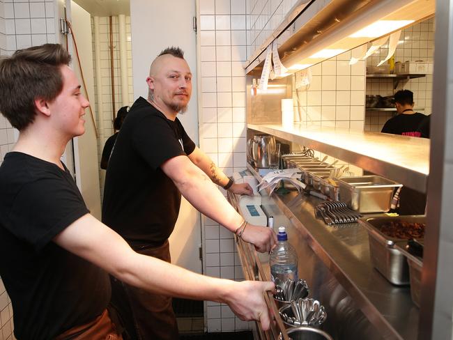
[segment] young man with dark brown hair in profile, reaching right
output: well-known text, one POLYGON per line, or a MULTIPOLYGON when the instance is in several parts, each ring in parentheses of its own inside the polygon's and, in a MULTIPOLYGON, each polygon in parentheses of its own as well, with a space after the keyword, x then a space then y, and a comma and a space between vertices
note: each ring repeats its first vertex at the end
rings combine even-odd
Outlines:
POLYGON ((60 158, 84 133, 89 102, 61 45, 0 60, 0 111, 19 131, 0 167, 0 276, 17 339, 122 339, 107 311, 107 272, 131 286, 229 304, 269 327, 270 282, 204 277, 134 252, 86 208, 60 158))

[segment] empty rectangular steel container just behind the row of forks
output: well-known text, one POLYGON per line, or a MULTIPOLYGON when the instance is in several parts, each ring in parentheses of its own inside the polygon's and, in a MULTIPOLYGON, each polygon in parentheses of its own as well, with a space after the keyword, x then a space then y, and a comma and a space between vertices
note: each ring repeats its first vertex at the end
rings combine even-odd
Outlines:
POLYGON ((402 185, 381 176, 339 178, 339 199, 358 212, 387 212, 394 189, 402 185))

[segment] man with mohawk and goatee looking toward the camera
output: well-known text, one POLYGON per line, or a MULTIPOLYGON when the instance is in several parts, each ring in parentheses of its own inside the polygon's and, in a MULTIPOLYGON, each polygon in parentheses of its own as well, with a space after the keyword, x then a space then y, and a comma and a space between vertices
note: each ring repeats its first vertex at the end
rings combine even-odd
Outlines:
MULTIPOLYGON (((235 194, 252 194, 247 183, 233 183, 187 136, 177 115, 187 109, 192 73, 178 47, 164 49, 151 63, 148 99, 132 105, 121 127, 105 179, 102 221, 141 254, 170 261, 169 235, 178 218, 181 194, 204 215, 269 252, 274 231, 245 222, 215 185, 235 194)), ((177 339, 171 299, 113 281, 112 301, 139 339, 177 339), (171 332, 162 332, 166 325, 171 332)))

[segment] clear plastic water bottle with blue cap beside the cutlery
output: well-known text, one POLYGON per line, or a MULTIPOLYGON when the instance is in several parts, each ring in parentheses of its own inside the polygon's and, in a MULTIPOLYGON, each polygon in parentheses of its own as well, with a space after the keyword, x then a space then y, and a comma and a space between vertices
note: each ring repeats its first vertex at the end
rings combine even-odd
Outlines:
POLYGON ((283 282, 288 279, 298 281, 298 255, 288 242, 288 234, 284 226, 279 226, 277 240, 277 247, 270 253, 269 260, 272 281, 277 277, 283 282))

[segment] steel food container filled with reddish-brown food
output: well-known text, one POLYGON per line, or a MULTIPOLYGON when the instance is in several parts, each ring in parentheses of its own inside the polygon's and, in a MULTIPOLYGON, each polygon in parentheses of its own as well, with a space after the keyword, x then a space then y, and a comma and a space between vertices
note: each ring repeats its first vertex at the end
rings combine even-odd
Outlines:
POLYGON ((371 263, 392 284, 409 284, 409 268, 406 256, 395 247, 396 244, 407 242, 401 238, 391 238, 381 232, 381 226, 387 222, 418 222, 424 223, 424 216, 398 217, 363 217, 359 219, 368 231, 369 254, 371 263))

